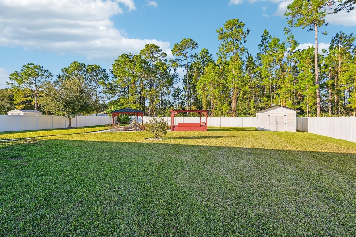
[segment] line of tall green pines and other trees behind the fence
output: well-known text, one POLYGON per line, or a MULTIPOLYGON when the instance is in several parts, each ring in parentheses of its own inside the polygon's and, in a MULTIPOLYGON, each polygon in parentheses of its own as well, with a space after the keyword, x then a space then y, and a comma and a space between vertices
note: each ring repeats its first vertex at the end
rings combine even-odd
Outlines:
POLYGON ((298 49, 290 29, 284 29, 284 41, 265 30, 257 54, 251 55, 245 47, 250 30, 231 19, 216 30, 216 60, 206 48, 199 51, 197 42, 183 38, 174 45, 172 59, 159 46, 147 44, 137 55, 119 55, 110 72, 73 62, 52 80, 47 69, 28 63, 10 74, 10 88, 1 89, 0 110, 34 108, 70 118, 122 107, 168 116, 174 108, 254 117, 256 111, 280 104, 305 116, 355 116, 355 36, 337 33, 321 54, 317 41, 325 16, 351 11, 354 3, 293 1, 286 12, 288 24, 315 31, 315 47, 306 49, 298 49), (184 68, 183 78, 179 67, 184 68))

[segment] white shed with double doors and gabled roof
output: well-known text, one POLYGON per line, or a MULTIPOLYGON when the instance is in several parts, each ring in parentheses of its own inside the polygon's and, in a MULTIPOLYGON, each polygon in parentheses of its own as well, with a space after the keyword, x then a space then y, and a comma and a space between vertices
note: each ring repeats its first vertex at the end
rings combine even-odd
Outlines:
POLYGON ((257 129, 277 132, 296 132, 299 110, 274 105, 257 111, 257 129))

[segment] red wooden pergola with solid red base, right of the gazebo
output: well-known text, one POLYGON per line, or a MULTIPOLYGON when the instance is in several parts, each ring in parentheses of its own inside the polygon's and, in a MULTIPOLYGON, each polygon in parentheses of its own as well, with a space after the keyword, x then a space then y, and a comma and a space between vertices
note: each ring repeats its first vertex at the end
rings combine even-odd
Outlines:
POLYGON ((208 110, 171 110, 171 131, 208 131, 208 110), (198 113, 200 123, 178 123, 174 125, 174 116, 177 113, 198 113), (205 116, 205 122, 201 122, 201 116, 205 116))

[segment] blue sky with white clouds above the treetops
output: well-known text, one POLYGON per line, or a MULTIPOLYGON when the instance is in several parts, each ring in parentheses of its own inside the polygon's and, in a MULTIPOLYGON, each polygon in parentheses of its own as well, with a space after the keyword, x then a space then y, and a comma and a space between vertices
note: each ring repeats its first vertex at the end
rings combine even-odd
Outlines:
MULTIPOLYGON (((1 0, 0 88, 6 87, 9 73, 30 62, 54 76, 73 61, 110 69, 118 55, 138 53, 146 43, 156 43, 171 57, 174 43, 192 38, 198 42, 198 51, 207 48, 216 58, 216 29, 234 18, 250 29, 246 47, 255 55, 264 29, 285 39, 283 13, 289 2, 1 0)), ((329 16, 326 21, 328 35, 319 34, 320 49, 328 47, 336 32, 356 33, 356 10, 329 16)), ((291 30, 301 48, 313 44, 314 32, 291 30)))

